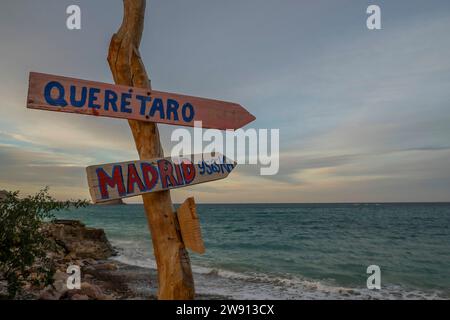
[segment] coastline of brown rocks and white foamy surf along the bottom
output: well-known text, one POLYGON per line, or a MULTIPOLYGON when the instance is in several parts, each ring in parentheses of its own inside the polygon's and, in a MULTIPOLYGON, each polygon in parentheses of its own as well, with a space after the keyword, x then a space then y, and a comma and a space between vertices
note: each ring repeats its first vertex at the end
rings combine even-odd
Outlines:
MULTIPOLYGON (((27 285, 17 299, 41 300, 154 300, 157 298, 157 271, 153 260, 140 259, 136 248, 123 247, 106 237, 103 229, 85 226, 79 220, 57 220, 49 237, 56 249, 48 252, 56 263, 52 286, 27 285), (131 251, 130 251, 131 250, 131 251), (137 253, 137 256, 136 256, 137 253), (131 254, 131 255, 130 255, 131 254), (67 267, 81 271, 81 288, 67 289, 67 267)), ((44 232, 49 232, 44 231, 44 232)), ((134 241, 133 241, 134 242, 134 241)), ((384 286, 373 291, 343 287, 333 282, 295 276, 239 273, 229 269, 192 265, 197 300, 378 300, 448 299, 437 292, 384 286)), ((5 285, 0 282, 0 298, 5 285)))

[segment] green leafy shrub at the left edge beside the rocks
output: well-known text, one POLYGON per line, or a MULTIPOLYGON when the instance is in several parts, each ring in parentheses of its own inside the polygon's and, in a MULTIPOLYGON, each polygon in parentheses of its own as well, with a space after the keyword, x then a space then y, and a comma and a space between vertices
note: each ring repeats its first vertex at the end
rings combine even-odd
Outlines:
POLYGON ((48 188, 36 195, 19 198, 7 192, 0 200, 0 280, 7 282, 8 297, 14 298, 23 285, 51 284, 55 267, 47 257, 51 242, 42 232, 54 212, 83 207, 87 201, 56 201, 48 188))

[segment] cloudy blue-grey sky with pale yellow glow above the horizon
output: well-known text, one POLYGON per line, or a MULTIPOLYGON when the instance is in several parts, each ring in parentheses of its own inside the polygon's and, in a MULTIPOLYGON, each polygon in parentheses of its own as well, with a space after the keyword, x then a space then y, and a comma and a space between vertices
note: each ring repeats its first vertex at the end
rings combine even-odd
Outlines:
MULTIPOLYGON (((30 71, 113 83, 122 14, 120 0, 2 1, 0 189, 87 199, 87 166, 138 158, 125 120, 25 107, 30 71)), ((280 130, 277 175, 239 165, 174 202, 450 201, 448 0, 148 0, 145 19, 154 89, 238 102, 246 128, 280 130)), ((159 127, 167 153, 176 127, 159 127)))

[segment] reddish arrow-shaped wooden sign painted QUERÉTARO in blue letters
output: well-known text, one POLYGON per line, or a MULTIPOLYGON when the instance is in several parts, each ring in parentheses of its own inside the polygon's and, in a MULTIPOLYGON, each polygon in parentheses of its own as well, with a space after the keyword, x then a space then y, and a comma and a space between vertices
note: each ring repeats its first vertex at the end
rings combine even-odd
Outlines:
POLYGON ((30 73, 27 107, 49 111, 238 129, 255 117, 241 105, 181 94, 30 73))

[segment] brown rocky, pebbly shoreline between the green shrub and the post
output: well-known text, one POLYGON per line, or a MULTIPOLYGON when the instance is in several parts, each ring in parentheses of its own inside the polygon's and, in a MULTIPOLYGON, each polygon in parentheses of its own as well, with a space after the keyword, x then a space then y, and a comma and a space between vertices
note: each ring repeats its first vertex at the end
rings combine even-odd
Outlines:
MULTIPOLYGON (((45 288, 27 283, 16 299, 25 300, 152 300, 157 298, 155 270, 115 261, 117 251, 102 229, 86 227, 76 220, 55 220, 42 228, 51 240, 47 255, 56 272, 54 283, 45 288), (81 288, 68 289, 67 268, 79 266, 81 288)), ((0 282, 0 296, 6 283, 0 282)), ((223 299, 213 295, 198 295, 196 299, 223 299)))

